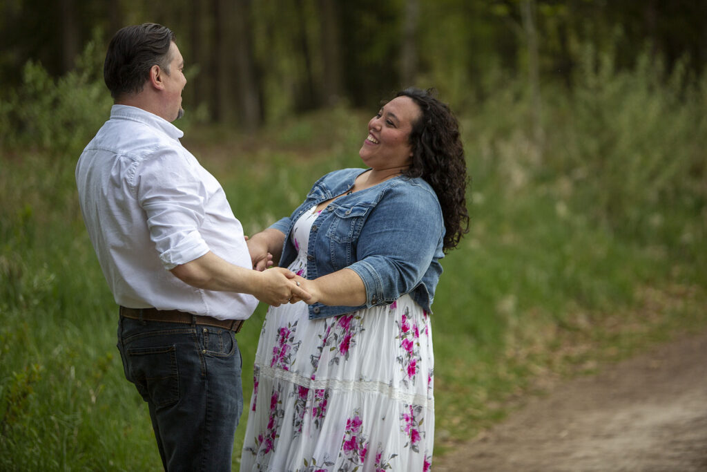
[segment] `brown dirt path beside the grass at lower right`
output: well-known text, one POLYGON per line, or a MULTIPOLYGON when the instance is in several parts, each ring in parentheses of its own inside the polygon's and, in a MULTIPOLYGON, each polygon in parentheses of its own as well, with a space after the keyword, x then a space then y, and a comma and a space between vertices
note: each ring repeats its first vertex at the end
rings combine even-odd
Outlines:
POLYGON ((433 471, 707 471, 707 333, 532 399, 433 471))

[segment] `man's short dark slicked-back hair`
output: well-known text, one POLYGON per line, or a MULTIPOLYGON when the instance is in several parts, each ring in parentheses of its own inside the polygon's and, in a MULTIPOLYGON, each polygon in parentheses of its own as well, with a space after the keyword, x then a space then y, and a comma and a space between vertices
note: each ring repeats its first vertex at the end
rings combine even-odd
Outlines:
POLYGON ((103 79, 114 100, 139 93, 158 65, 170 73, 170 45, 175 33, 156 23, 126 26, 110 40, 103 64, 103 79))

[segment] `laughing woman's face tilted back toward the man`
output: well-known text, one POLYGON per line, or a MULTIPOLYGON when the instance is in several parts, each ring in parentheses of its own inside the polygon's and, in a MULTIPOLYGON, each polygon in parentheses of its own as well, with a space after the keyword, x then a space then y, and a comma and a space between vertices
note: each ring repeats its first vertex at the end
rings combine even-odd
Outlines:
POLYGON ((366 166, 375 171, 409 166, 410 132, 420 115, 419 106, 409 97, 397 97, 386 103, 368 122, 368 137, 358 151, 366 166))

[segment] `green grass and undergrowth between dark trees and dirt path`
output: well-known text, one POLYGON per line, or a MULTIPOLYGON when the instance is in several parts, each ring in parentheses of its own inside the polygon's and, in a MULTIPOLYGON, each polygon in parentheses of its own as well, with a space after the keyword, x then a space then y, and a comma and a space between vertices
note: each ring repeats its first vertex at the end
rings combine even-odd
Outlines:
MULTIPOLYGON (((110 103, 87 72, 43 74, 28 66, 22 100, 0 105, 0 468, 158 470, 74 185, 110 103)), ((515 81, 460 113, 472 229, 443 260, 433 305, 438 452, 540 380, 707 321, 706 81, 647 58, 617 72, 590 51, 581 74, 573 91, 545 91, 544 143, 528 138, 515 81)), ((185 144, 252 233, 322 173, 360 165, 370 113, 327 110, 255 137, 192 127, 185 144)), ((261 306, 238 335, 246 397, 263 316, 261 306)))

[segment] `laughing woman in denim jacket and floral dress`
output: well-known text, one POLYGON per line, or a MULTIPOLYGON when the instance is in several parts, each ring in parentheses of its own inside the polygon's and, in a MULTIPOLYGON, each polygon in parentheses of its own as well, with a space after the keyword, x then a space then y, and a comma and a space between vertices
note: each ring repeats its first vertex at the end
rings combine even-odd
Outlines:
POLYGON ((368 169, 325 175, 248 241, 254 265, 272 253, 312 297, 267 313, 241 471, 431 465, 430 305, 439 260, 469 225, 457 120, 401 91, 359 154, 368 169))

